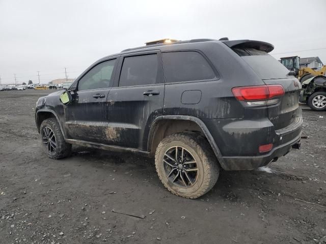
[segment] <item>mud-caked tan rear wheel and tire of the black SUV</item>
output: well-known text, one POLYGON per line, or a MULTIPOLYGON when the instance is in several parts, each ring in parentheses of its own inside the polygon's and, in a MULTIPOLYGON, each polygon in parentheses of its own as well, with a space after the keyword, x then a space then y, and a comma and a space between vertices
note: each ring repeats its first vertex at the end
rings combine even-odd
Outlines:
POLYGON ((158 177, 171 193, 191 199, 212 189, 220 172, 207 140, 192 132, 164 138, 156 149, 155 167, 158 177))

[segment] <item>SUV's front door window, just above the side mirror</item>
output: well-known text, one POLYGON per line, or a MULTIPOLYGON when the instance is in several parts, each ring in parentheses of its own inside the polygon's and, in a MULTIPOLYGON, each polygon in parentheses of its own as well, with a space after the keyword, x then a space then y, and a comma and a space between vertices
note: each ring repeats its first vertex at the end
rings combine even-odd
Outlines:
POLYGON ((78 82, 78 90, 108 88, 112 85, 116 59, 108 60, 93 67, 78 82))

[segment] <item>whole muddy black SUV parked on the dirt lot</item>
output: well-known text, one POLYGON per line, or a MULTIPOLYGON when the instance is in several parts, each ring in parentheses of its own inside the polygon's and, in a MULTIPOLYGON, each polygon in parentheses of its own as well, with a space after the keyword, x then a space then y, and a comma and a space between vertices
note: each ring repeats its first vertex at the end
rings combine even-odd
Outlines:
MULTIPOLYGON (((155 42, 154 42, 155 43, 155 42)), ((224 170, 250 170, 300 147, 301 84, 260 41, 198 39, 106 56, 69 89, 38 100, 46 154, 71 144, 155 157, 173 194, 197 198, 224 170)))

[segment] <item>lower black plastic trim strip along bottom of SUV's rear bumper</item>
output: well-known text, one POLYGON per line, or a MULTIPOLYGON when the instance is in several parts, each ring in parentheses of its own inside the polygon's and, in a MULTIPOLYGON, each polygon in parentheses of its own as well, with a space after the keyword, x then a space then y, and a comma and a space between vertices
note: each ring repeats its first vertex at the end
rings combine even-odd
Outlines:
POLYGON ((300 133, 294 139, 274 147, 266 155, 250 157, 221 157, 219 162, 224 170, 251 170, 266 166, 272 161, 276 161, 279 157, 289 153, 292 146, 300 141, 301 134, 302 132, 300 131, 300 133))

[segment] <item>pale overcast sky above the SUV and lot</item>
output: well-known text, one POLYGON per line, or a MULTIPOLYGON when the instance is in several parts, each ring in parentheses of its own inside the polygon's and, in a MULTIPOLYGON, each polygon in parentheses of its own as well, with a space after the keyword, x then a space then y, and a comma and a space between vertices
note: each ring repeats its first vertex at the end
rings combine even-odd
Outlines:
POLYGON ((64 78, 65 67, 75 78, 103 56, 161 38, 260 40, 275 46, 276 58, 326 64, 325 11, 325 0, 0 0, 1 81, 16 74, 37 83, 40 71, 47 83, 64 78))

